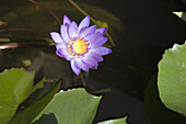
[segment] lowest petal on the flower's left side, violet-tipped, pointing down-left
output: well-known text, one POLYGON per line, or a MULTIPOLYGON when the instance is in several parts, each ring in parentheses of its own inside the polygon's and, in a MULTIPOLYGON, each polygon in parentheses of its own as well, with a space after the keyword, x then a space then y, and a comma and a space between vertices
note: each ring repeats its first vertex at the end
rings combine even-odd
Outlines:
POLYGON ((57 49, 57 50, 56 50, 56 54, 57 54, 58 56, 60 56, 60 57, 66 58, 67 60, 72 60, 72 59, 73 59, 73 57, 70 56, 70 54, 67 52, 67 49, 62 49, 62 48, 57 49))

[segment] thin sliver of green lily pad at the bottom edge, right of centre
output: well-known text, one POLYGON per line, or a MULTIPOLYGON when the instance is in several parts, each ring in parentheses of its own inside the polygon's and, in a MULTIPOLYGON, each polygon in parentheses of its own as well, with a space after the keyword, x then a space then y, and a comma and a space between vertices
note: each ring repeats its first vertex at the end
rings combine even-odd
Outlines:
POLYGON ((109 120, 109 121, 101 122, 98 124, 127 124, 126 120, 127 120, 127 116, 117 119, 117 120, 109 120))

